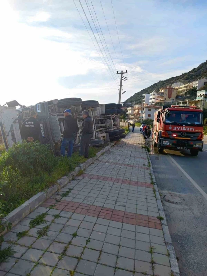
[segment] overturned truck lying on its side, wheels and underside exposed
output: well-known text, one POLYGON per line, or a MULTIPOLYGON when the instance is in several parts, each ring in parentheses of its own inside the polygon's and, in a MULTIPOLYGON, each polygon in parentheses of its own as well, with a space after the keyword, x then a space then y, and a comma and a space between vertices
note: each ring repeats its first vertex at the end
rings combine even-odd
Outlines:
POLYGON ((0 136, 2 136, 6 149, 11 147, 13 143, 21 143, 21 125, 23 121, 29 118, 30 111, 36 111, 37 120, 41 127, 40 142, 50 144, 52 151, 56 155, 60 155, 60 145, 64 131, 63 111, 69 108, 79 127, 74 141, 74 151, 79 148, 81 140, 83 110, 89 111, 94 122, 90 145, 103 145, 104 142, 116 141, 125 137, 124 129, 120 129, 119 125, 119 114, 122 113, 121 107, 121 104, 99 104, 98 101, 82 101, 80 98, 55 99, 28 107, 20 105, 17 101, 11 101, 4 106, 0 106, 0 136), (20 108, 16 109, 17 106, 20 106, 20 108))

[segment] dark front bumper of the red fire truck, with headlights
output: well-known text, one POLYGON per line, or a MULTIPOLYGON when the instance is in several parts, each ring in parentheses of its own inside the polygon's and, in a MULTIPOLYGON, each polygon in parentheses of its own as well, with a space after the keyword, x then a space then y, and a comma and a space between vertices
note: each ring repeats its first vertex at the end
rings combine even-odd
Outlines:
POLYGON ((165 139, 159 140, 162 148, 174 148, 174 149, 198 149, 202 151, 203 141, 192 141, 185 139, 165 139))

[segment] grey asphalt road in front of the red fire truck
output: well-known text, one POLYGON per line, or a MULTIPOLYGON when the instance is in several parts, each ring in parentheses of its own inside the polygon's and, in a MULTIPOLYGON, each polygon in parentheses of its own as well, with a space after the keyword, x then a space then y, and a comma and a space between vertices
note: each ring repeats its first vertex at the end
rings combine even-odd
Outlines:
POLYGON ((201 194, 207 193, 207 139, 204 143, 197 157, 188 151, 158 154, 153 148, 150 154, 182 276, 207 275, 207 196, 201 194))

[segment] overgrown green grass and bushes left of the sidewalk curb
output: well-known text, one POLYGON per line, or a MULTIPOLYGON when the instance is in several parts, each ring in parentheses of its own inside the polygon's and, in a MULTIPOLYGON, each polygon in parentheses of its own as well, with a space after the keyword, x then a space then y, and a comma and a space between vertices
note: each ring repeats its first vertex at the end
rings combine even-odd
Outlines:
MULTIPOLYGON (((0 149, 3 149, 2 145, 0 149)), ((90 147, 89 158, 98 151, 100 148, 90 147)), ((69 159, 55 157, 49 145, 36 142, 14 144, 7 152, 3 151, 0 155, 0 200, 4 203, 0 206, 0 217, 49 188, 86 160, 78 152, 69 159)))

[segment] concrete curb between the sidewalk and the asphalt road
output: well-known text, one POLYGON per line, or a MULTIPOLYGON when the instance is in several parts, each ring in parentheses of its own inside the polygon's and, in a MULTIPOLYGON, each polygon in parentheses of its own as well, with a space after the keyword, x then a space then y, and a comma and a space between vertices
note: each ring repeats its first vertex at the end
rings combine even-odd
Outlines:
MULTIPOLYGON (((147 156, 149 157, 148 151, 147 151, 147 156)), ((161 201, 161 198, 160 198, 159 190, 157 188, 157 184, 156 184, 156 181, 155 181, 155 175, 154 175, 154 172, 153 172, 150 157, 149 157, 149 161, 150 161, 150 164, 151 164, 150 172, 152 174, 152 180, 155 183, 155 184, 153 184, 153 186, 154 186, 155 191, 156 191, 157 205, 158 205, 159 214, 160 214, 160 216, 162 216, 164 218, 164 220, 161 221, 161 224, 162 224, 162 228, 163 228, 165 243, 166 243, 166 246, 167 246, 167 250, 169 252, 169 260, 170 260, 171 270, 172 270, 172 273, 174 274, 174 276, 180 276, 180 271, 179 271, 178 262, 177 262, 176 255, 175 255, 174 246, 172 245, 172 240, 171 240, 169 228, 167 226, 167 220, 166 220, 166 217, 165 217, 165 212, 164 212, 164 209, 163 209, 163 204, 162 204, 162 201, 161 201)))

